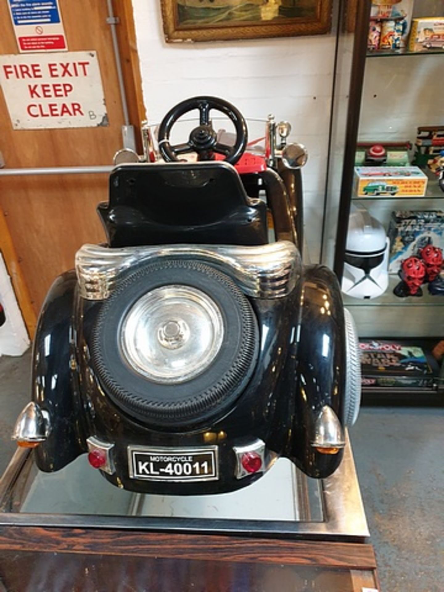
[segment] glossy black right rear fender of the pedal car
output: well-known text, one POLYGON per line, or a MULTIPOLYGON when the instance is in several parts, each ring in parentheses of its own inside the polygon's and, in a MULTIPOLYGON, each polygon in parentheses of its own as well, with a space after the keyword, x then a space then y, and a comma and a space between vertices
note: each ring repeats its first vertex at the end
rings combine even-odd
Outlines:
POLYGON ((343 433, 346 380, 344 310, 339 282, 330 269, 305 267, 300 303, 293 344, 294 408, 287 456, 310 477, 324 478, 339 466, 343 448, 319 452, 314 446, 315 426, 328 406, 343 433))

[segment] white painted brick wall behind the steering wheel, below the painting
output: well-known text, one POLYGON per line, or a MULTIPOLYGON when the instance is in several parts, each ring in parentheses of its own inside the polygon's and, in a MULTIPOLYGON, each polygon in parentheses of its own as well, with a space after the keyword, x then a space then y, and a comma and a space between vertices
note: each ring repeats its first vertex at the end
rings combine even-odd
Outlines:
POLYGON ((176 102, 221 96, 245 117, 291 122, 304 143, 305 236, 319 258, 334 60, 334 36, 165 43, 160 2, 133 0, 144 101, 151 123, 176 102))

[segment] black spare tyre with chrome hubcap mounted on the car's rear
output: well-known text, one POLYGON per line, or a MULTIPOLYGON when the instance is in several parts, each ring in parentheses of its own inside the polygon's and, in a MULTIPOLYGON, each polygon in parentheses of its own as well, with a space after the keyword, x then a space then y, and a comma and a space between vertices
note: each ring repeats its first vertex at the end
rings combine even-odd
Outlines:
POLYGON ((227 275, 162 259, 117 282, 96 320, 92 361, 128 414, 152 427, 189 429, 229 410, 258 348, 252 306, 227 275))

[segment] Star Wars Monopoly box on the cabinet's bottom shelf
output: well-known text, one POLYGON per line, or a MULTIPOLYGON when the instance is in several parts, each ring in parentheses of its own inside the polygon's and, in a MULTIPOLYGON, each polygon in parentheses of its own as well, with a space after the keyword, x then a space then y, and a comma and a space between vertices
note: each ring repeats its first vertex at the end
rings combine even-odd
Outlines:
POLYGON ((433 371, 422 348, 395 341, 361 339, 362 384, 377 387, 430 387, 433 371))

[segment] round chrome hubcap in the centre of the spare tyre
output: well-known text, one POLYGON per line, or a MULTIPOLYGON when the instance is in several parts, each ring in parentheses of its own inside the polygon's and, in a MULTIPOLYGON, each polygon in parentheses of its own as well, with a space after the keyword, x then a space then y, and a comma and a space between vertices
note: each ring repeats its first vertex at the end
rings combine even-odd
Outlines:
POLYGON ((214 361, 224 337, 221 312, 200 289, 166 285, 144 294, 121 325, 121 354, 153 382, 180 383, 214 361))

